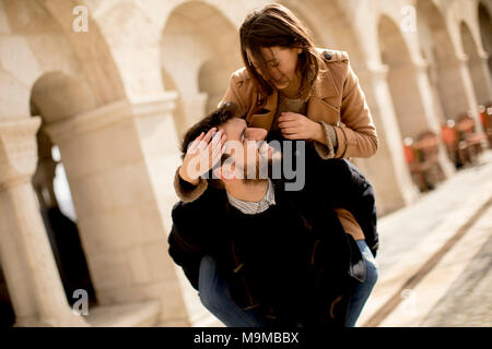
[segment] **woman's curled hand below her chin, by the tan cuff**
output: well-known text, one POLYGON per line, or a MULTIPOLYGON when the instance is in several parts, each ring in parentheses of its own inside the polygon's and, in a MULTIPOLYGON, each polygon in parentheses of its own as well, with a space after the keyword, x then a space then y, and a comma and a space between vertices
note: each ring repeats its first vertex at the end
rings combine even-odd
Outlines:
POLYGON ((282 112, 279 129, 286 140, 313 140, 324 143, 325 132, 320 123, 295 112, 282 112))

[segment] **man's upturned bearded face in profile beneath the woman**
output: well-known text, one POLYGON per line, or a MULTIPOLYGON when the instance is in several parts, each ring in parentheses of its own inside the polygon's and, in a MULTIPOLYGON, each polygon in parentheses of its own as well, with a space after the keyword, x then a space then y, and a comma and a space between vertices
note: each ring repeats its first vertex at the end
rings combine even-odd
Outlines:
POLYGON ((273 156, 273 149, 265 141, 265 129, 248 128, 246 121, 233 118, 219 127, 227 136, 225 154, 231 156, 227 161, 233 163, 231 170, 236 178, 263 179, 265 170, 273 156), (263 169, 261 171, 261 169, 263 169))

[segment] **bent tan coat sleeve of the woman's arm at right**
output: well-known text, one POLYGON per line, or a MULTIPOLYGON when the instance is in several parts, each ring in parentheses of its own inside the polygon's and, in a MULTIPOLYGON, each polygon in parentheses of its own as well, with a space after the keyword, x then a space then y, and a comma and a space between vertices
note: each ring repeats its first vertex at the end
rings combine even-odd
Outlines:
POLYGON ((359 77, 350 63, 343 82, 340 120, 342 127, 333 127, 337 133, 337 151, 335 158, 373 156, 379 145, 370 108, 359 77))

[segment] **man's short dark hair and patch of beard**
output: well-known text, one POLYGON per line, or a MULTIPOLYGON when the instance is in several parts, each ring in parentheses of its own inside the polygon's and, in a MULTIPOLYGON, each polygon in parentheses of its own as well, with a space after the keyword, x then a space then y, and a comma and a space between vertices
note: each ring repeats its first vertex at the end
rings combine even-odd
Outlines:
MULTIPOLYGON (((227 101, 192 125, 183 139, 180 146, 181 158, 185 158, 188 147, 202 132, 207 134, 207 132, 211 129, 219 128, 221 124, 224 124, 233 118, 242 118, 239 115, 239 108, 236 104, 227 101)), ((222 155, 221 163, 223 163, 229 156, 230 155, 226 154, 222 155)), ((223 188, 221 181, 212 179, 212 171, 213 169, 209 171, 207 177, 209 183, 214 188, 223 188)))

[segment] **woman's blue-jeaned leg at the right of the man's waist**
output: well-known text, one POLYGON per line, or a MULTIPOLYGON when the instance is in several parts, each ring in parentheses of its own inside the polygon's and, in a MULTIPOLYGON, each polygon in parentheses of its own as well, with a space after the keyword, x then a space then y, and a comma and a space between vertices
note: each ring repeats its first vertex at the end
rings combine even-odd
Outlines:
POLYGON ((358 321, 359 315, 361 315, 362 309, 377 281, 377 263, 374 260, 371 250, 365 243, 365 240, 358 240, 356 243, 365 260, 365 281, 362 284, 356 282, 355 289, 353 290, 350 299, 347 327, 355 327, 355 322, 358 321))

